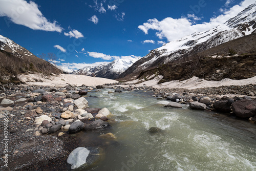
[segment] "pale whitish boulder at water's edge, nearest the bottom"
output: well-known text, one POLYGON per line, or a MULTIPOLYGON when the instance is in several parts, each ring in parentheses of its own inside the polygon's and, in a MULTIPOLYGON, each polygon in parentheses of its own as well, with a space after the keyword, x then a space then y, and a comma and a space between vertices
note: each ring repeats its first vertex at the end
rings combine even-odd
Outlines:
POLYGON ((90 151, 84 147, 78 147, 72 151, 68 157, 67 162, 71 164, 71 169, 80 167, 86 163, 90 151))

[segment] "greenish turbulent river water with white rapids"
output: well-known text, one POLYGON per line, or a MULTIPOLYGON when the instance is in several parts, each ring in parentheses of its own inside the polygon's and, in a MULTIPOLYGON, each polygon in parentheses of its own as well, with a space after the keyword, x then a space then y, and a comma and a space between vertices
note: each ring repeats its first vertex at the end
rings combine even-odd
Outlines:
MULTIPOLYGON (((256 170, 256 126, 214 112, 164 108, 153 92, 89 93, 90 108, 108 108, 117 138, 82 170, 256 170), (150 134, 150 127, 162 132, 150 134)), ((82 133, 84 142, 96 133, 82 133)), ((96 135, 95 135, 96 134, 96 135)), ((98 136, 98 135, 97 135, 98 136)), ((87 146, 85 146, 87 147, 87 146)))

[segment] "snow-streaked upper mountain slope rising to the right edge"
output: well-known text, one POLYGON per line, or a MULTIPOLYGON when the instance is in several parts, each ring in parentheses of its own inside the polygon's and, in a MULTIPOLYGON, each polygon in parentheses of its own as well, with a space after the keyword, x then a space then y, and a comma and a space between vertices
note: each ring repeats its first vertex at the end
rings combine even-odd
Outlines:
POLYGON ((146 69, 151 69, 174 61, 196 55, 199 52, 216 47, 239 37, 256 33, 256 3, 250 5, 237 16, 230 18, 223 25, 205 32, 187 35, 179 40, 170 41, 160 48, 152 50, 127 69, 120 77, 129 74, 137 75, 146 69))

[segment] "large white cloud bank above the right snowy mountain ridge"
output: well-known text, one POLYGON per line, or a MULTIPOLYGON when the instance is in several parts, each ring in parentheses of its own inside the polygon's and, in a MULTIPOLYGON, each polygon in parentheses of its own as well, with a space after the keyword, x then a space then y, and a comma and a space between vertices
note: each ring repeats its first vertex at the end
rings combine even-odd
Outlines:
POLYGON ((236 16, 239 12, 244 10, 250 4, 255 3, 254 0, 245 0, 239 5, 233 6, 223 14, 212 17, 210 22, 202 24, 193 24, 188 18, 171 18, 167 17, 159 21, 156 18, 148 19, 147 23, 138 26, 145 34, 148 34, 148 30, 156 30, 156 35, 162 39, 167 38, 168 41, 180 39, 186 35, 190 35, 195 32, 202 32, 224 24, 228 19, 236 16))

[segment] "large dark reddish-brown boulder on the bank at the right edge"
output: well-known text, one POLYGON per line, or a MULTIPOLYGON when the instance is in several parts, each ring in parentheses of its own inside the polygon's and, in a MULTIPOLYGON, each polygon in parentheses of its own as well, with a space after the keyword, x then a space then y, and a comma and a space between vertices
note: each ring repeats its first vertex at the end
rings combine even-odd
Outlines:
POLYGON ((232 103, 232 110, 237 117, 250 118, 256 115, 256 103, 248 99, 238 100, 232 103))

